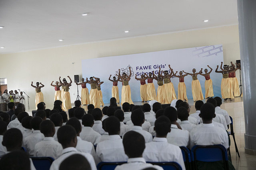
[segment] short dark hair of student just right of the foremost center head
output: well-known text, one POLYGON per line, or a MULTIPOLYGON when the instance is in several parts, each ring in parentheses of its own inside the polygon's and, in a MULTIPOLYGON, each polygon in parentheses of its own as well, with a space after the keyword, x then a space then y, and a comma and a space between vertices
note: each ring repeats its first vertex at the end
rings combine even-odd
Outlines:
POLYGON ((167 135, 168 132, 170 132, 171 128, 171 121, 166 116, 160 116, 155 121, 155 131, 156 134, 163 137, 167 135))

